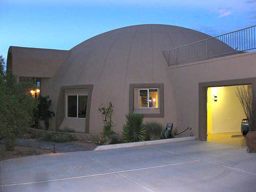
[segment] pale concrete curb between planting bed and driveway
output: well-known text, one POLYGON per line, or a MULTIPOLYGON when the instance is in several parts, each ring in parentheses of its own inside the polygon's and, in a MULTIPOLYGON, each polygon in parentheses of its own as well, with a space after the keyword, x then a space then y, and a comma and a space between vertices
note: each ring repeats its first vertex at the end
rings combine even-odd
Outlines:
POLYGON ((141 141, 141 142, 132 142, 132 143, 100 145, 100 146, 96 147, 94 149, 94 151, 136 147, 136 146, 146 146, 146 145, 154 145, 154 144, 164 144, 164 143, 179 142, 179 141, 191 141, 191 140, 195 140, 195 139, 196 139, 195 137, 180 137, 180 138, 172 138, 172 139, 153 140, 153 141, 141 141))

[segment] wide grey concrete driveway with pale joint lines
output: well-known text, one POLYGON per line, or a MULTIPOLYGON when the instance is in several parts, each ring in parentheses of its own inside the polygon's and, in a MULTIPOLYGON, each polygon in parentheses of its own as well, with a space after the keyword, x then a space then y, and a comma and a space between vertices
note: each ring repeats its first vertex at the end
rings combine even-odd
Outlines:
POLYGON ((255 192, 256 154, 185 141, 1 162, 3 192, 255 192))

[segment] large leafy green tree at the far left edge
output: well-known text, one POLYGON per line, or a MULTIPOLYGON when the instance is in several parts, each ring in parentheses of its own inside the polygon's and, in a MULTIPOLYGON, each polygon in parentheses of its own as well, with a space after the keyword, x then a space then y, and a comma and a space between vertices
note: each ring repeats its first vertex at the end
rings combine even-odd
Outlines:
POLYGON ((5 140, 7 150, 13 150, 16 138, 22 137, 30 127, 37 104, 30 90, 36 86, 29 79, 17 82, 11 71, 4 70, 4 64, 0 56, 0 139, 5 140), (8 146, 10 142, 12 147, 8 146))

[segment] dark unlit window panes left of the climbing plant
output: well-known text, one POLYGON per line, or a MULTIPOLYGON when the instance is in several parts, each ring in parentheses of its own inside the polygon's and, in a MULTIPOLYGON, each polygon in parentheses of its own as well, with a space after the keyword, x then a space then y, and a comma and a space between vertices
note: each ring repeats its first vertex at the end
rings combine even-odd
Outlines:
POLYGON ((86 118, 86 95, 68 95, 67 116, 74 118, 86 118))

